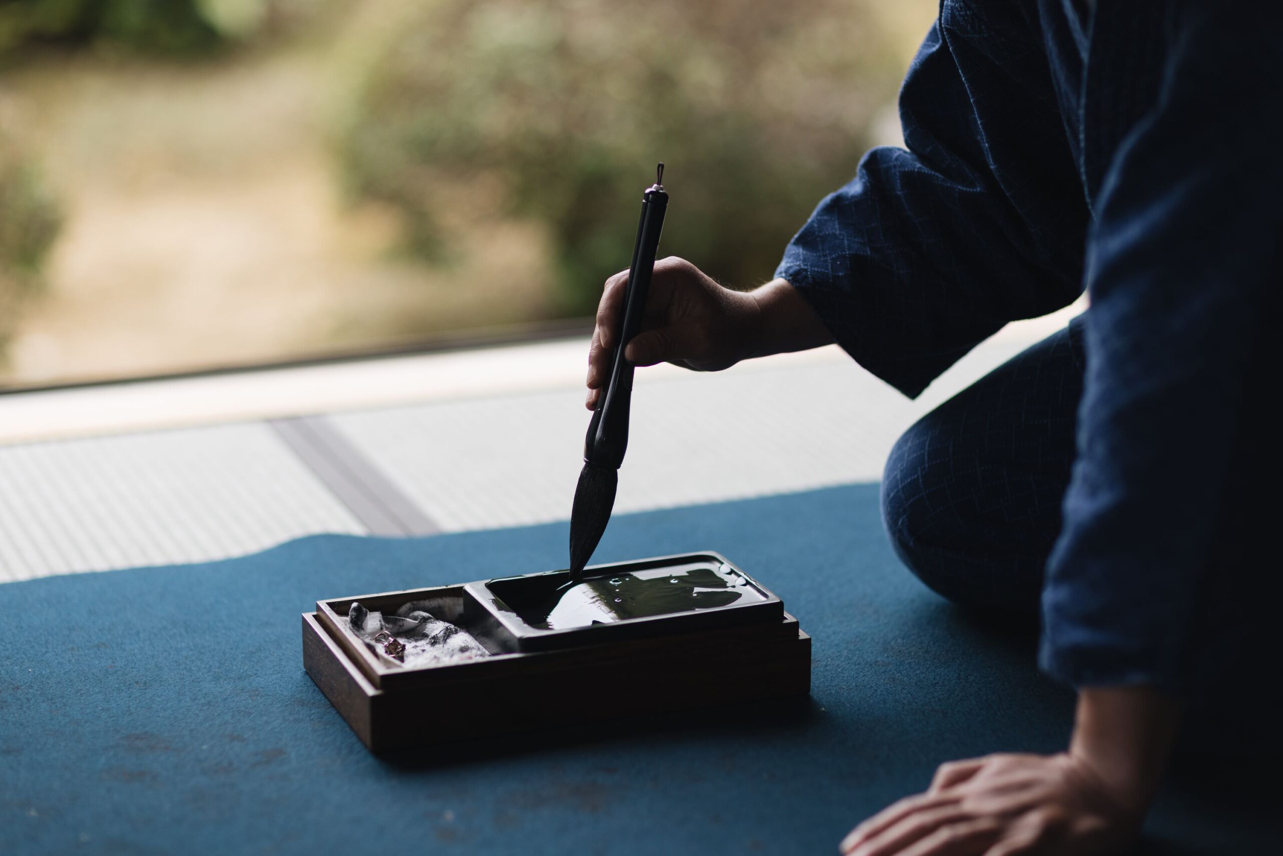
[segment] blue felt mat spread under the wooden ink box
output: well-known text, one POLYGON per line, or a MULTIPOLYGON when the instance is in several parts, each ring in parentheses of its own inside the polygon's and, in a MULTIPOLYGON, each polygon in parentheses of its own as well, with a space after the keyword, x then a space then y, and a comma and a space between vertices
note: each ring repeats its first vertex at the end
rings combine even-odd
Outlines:
MULTIPOLYGON (((810 699, 390 760, 304 674, 299 613, 561 567, 565 524, 3 585, 0 852, 830 853, 939 761, 1062 747, 1030 634, 917 584, 876 486, 621 516, 595 560, 708 548, 815 637, 810 699)), ((1178 771, 1144 848, 1270 852, 1207 775, 1178 771)))

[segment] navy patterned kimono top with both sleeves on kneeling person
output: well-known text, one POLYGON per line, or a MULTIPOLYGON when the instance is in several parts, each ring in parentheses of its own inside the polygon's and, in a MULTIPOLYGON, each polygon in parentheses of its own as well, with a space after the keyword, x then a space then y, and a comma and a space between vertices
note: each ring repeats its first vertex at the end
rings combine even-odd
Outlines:
POLYGON ((1280 104, 1283 4, 943 0, 906 149, 867 153, 776 272, 908 395, 1088 290, 1042 586, 1041 661, 1070 683, 1198 689, 1209 613, 1252 597, 1219 580, 1278 576, 1251 549, 1228 569, 1264 538, 1245 497, 1278 484, 1277 441, 1247 438, 1278 384, 1280 104))

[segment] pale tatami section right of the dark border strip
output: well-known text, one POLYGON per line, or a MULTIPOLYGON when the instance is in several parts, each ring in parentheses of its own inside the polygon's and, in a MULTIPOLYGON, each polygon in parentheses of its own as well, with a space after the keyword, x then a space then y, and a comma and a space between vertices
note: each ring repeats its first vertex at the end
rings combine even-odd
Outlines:
MULTIPOLYGON (((912 404, 849 363, 638 384, 616 509, 874 481, 912 404)), ((328 422, 444 531, 570 516, 579 390, 337 413, 328 422)))

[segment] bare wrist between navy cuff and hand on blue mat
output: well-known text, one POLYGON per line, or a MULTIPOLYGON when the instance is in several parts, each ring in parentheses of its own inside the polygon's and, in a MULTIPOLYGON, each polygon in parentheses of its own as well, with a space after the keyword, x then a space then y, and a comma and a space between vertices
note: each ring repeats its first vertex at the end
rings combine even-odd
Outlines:
POLYGON ((1087 687, 1078 696, 1069 753, 1139 819, 1159 788, 1179 724, 1180 703, 1152 687, 1087 687))

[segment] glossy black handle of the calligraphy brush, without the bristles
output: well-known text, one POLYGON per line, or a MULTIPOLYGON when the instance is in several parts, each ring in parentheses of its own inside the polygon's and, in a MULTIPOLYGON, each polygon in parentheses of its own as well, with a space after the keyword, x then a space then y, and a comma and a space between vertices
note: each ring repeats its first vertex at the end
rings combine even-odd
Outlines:
POLYGON ((611 357, 611 376, 597 399, 593 421, 584 440, 584 459, 599 467, 618 470, 629 447, 629 409, 633 402, 633 363, 624 358, 624 348, 642 329, 645 300, 650 293, 650 275, 659 249, 663 214, 668 208, 668 194, 663 189, 663 164, 659 164, 656 184, 642 196, 642 222, 633 246, 633 264, 624 298, 624 312, 615 322, 611 357))

